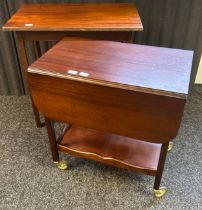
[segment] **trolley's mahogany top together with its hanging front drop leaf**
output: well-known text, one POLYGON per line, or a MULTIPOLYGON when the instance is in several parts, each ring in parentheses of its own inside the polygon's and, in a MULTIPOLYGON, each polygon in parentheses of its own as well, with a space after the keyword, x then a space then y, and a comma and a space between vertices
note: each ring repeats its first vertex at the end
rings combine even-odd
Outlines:
POLYGON ((192 56, 65 38, 29 67, 28 81, 36 106, 50 119, 162 143, 177 135, 192 56))

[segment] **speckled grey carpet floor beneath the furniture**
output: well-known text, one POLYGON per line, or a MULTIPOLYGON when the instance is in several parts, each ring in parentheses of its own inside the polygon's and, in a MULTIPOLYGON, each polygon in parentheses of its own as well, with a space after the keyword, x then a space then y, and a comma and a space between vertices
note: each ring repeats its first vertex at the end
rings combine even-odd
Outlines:
POLYGON ((46 129, 37 129, 28 96, 0 96, 0 209, 202 209, 202 87, 189 96, 168 154, 162 186, 154 178, 64 156, 68 171, 51 160, 46 129))

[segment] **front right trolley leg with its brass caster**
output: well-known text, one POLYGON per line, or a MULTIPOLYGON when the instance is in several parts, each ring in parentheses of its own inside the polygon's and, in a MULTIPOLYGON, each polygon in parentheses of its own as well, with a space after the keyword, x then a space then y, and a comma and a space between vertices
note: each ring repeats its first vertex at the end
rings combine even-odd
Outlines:
POLYGON ((165 195, 167 191, 165 187, 160 187, 160 183, 161 183, 166 155, 168 151, 168 145, 169 143, 164 143, 162 144, 162 147, 161 147, 161 154, 159 157, 159 163, 158 163, 157 173, 156 173, 155 182, 154 182, 154 195, 156 198, 161 198, 163 195, 165 195))

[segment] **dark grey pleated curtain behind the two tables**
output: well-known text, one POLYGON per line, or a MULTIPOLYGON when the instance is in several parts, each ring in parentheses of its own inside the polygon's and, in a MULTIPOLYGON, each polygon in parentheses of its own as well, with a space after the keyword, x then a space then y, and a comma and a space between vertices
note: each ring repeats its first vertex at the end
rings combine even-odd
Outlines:
MULTIPOLYGON (((65 1, 65 0, 1 0, 0 3, 0 95, 24 95, 23 82, 15 34, 3 32, 2 26, 22 3, 47 2, 135 2, 144 31, 135 35, 135 43, 194 50, 191 76, 193 84, 202 53, 202 1, 201 0, 132 0, 132 1, 65 1)), ((51 46, 41 43, 43 50, 51 46)), ((31 45, 27 46, 29 60, 35 57, 31 45)))

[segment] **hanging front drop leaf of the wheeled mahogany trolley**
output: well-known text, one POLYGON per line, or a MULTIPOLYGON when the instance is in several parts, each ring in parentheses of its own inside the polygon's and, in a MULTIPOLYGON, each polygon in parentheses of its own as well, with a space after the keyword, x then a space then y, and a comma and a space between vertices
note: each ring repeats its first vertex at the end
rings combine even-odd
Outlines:
POLYGON ((50 119, 156 143, 175 138, 185 99, 28 73, 34 102, 50 119))

